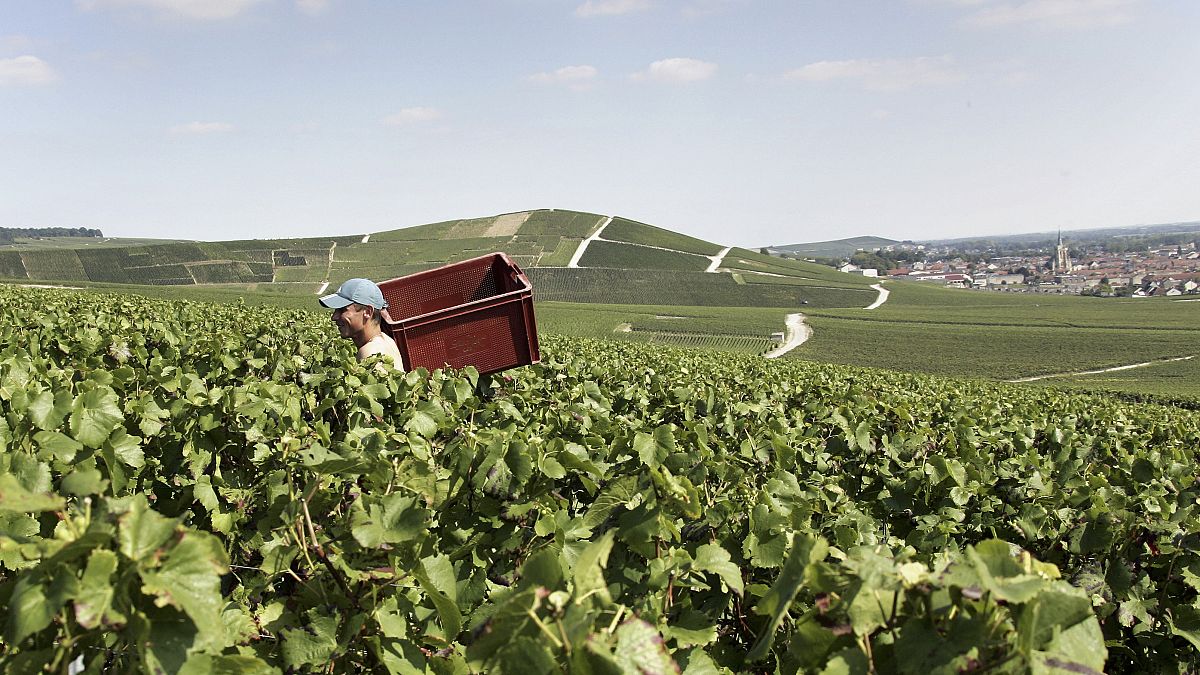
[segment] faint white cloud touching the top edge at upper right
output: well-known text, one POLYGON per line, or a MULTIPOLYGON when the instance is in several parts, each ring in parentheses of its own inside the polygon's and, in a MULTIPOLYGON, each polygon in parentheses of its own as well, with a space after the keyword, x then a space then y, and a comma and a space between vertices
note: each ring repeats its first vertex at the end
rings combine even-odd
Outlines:
POLYGON ((994 4, 964 19, 994 28, 1030 25, 1044 29, 1090 29, 1129 23, 1138 0, 1026 0, 994 4))

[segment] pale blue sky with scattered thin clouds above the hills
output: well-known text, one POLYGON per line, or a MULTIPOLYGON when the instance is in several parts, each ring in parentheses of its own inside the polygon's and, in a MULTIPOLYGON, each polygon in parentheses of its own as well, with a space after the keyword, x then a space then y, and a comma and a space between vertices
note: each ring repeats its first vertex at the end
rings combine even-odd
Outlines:
POLYGON ((0 0, 0 226, 1200 220, 1196 0, 0 0))

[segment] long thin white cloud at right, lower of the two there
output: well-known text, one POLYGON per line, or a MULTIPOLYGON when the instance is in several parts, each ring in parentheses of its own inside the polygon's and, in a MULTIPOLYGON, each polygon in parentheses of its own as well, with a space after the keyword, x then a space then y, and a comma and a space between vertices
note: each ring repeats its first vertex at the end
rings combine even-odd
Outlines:
POLYGON ((817 61, 784 74, 802 82, 858 82, 875 91, 899 91, 913 86, 952 84, 962 79, 950 56, 914 59, 852 59, 817 61))

